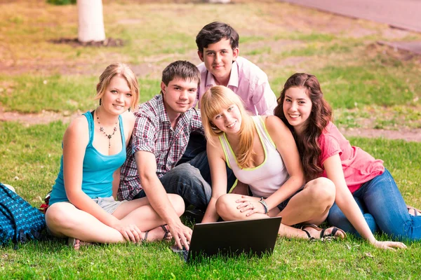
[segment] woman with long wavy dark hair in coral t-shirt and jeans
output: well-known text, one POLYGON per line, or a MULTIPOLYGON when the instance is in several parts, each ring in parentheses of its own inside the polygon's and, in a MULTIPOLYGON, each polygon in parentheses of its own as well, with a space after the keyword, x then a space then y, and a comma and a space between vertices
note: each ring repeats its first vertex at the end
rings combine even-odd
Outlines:
POLYGON ((332 111, 315 76, 295 73, 288 78, 274 113, 293 132, 307 180, 323 176, 335 183, 330 224, 380 248, 405 245, 377 241, 377 230, 398 240, 421 239, 421 216, 406 206, 382 160, 351 146, 330 121, 332 111))

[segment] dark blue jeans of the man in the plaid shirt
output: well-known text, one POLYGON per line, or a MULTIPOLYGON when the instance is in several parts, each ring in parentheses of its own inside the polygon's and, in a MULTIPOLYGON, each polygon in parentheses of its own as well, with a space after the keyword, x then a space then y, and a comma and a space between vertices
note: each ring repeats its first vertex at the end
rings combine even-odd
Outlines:
MULTIPOLYGON (((180 195, 186 206, 206 210, 212 191, 210 185, 203 179, 199 169, 189 163, 182 163, 171 169, 159 179, 167 193, 180 195)), ((133 199, 145 197, 145 190, 135 195, 133 199)))

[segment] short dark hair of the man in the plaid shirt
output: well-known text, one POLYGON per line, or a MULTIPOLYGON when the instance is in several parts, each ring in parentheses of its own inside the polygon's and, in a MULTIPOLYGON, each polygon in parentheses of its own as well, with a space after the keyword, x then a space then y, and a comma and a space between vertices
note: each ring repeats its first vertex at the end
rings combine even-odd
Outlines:
POLYGON ((174 80, 175 78, 180 78, 182 80, 197 80, 197 86, 200 84, 200 72, 197 69, 196 65, 192 62, 187 62, 185 60, 178 60, 173 62, 165 67, 162 71, 162 81, 165 85, 174 80))

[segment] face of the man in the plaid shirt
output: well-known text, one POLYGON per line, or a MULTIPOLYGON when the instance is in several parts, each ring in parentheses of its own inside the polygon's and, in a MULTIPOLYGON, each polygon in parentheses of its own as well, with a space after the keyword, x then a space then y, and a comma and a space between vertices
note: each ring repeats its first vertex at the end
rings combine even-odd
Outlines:
POLYGON ((197 94, 197 80, 175 78, 168 85, 161 82, 161 91, 170 119, 192 108, 197 94))

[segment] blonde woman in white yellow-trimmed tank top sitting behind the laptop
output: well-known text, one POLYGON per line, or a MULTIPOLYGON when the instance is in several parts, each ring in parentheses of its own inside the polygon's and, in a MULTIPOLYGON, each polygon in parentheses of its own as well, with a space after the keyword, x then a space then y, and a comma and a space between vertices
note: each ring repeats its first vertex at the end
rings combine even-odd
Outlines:
POLYGON ((338 228, 317 227, 333 205, 335 186, 325 178, 305 184, 293 135, 279 118, 250 116, 238 95, 220 85, 203 95, 201 118, 212 176, 202 223, 282 216, 281 236, 345 238, 338 228), (227 194, 225 164, 253 196, 227 194), (292 227, 298 223, 304 223, 302 229, 292 227))

